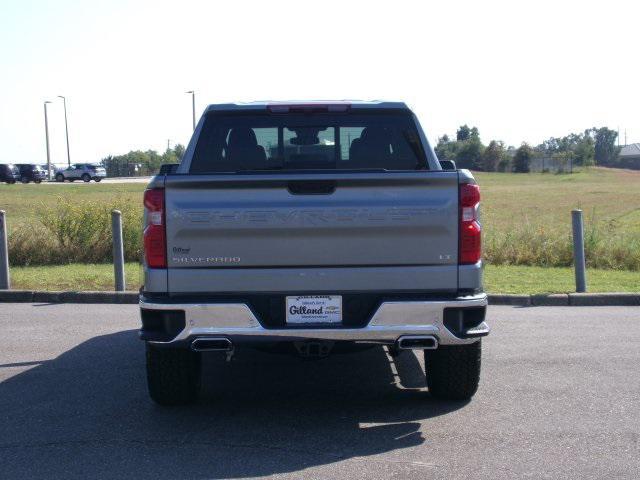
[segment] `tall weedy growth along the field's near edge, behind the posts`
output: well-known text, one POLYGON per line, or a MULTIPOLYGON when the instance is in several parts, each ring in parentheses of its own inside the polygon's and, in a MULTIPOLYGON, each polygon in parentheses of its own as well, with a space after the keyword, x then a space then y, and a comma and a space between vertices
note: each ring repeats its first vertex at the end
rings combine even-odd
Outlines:
MULTIPOLYGON (((142 258, 142 208, 137 204, 83 202, 60 198, 42 206, 39 222, 10 231, 11 265, 60 265, 112 261, 111 211, 122 212, 125 259, 142 258)), ((585 253, 590 268, 640 271, 640 232, 620 232, 613 222, 585 224, 585 253)), ((495 231, 486 222, 484 258, 494 265, 568 267, 573 265, 571 228, 530 222, 495 231)))

